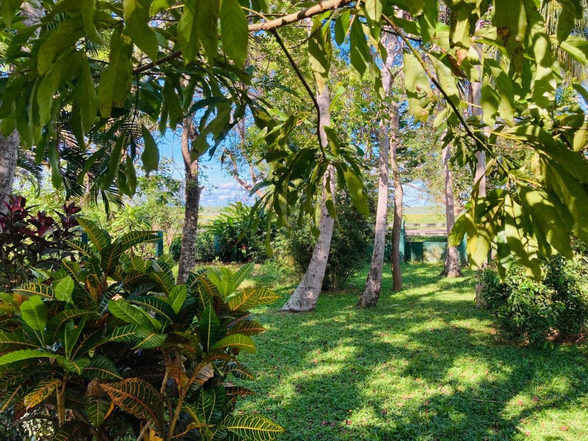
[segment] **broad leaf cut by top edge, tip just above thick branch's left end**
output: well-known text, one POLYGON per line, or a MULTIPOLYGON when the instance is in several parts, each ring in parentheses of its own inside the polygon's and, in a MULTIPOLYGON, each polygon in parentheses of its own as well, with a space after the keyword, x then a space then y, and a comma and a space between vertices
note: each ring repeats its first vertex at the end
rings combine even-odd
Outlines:
POLYGON ((133 44, 145 52, 151 61, 155 61, 158 43, 155 31, 148 24, 151 20, 150 3, 149 0, 124 0, 125 32, 131 36, 133 44))

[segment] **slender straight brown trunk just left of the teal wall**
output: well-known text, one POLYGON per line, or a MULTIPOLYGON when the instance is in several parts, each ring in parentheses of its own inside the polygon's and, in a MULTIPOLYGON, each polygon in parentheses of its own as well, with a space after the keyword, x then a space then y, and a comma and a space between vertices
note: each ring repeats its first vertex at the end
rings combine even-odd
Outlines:
POLYGON ((392 168, 392 180, 394 183, 394 221, 392 223, 392 289, 399 291, 402 289, 402 272, 400 272, 400 225, 402 224, 402 200, 403 190, 400 182, 400 167, 398 165, 397 146, 398 146, 398 105, 392 103, 392 112, 390 113, 390 166, 392 168))

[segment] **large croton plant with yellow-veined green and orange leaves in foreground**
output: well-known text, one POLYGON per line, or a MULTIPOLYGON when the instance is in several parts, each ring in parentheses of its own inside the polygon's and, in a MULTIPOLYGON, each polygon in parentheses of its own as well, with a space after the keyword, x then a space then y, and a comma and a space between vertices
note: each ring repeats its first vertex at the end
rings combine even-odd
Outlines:
MULTIPOLYGON (((237 290, 251 265, 192 272, 176 285, 166 256, 129 257, 132 232, 113 240, 79 217, 89 244, 45 280, 0 293, 0 412, 48 423, 48 439, 271 440, 282 427, 235 412, 251 379, 239 352, 263 332, 248 310, 278 298, 237 290)), ((41 433, 41 432, 39 432, 41 433)), ((37 436, 36 439, 39 439, 37 436)))

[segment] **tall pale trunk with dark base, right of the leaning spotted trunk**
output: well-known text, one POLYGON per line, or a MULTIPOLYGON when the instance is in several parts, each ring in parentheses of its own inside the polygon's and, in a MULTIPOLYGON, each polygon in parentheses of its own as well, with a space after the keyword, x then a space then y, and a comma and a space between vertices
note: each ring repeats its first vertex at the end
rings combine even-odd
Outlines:
MULTIPOLYGON (((386 47, 386 63, 382 68, 382 83, 386 98, 389 98, 390 87, 392 86, 392 65, 396 57, 397 41, 396 37, 386 34, 382 38, 386 47)), ((393 116, 390 110, 387 112, 387 119, 391 122, 393 116)), ((372 263, 368 272, 363 293, 359 298, 358 306, 365 308, 367 306, 376 306, 377 300, 382 292, 382 270, 384 265, 384 253, 386 250, 386 226, 388 215, 388 161, 390 151, 390 136, 388 122, 380 119, 380 139, 379 139, 379 165, 378 165, 378 188, 377 188, 377 210, 376 210, 376 229, 373 239, 372 263)))

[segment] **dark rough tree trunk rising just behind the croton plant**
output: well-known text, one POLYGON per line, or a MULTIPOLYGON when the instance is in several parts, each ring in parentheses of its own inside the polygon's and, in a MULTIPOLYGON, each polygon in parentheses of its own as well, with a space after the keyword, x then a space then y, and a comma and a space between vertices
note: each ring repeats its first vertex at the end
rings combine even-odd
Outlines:
POLYGON ((199 158, 192 158, 191 142, 196 138, 192 118, 185 118, 182 129, 182 158, 186 172, 186 208, 182 228, 182 247, 178 262, 178 284, 185 283, 196 262, 198 211, 203 187, 198 182, 199 158))

